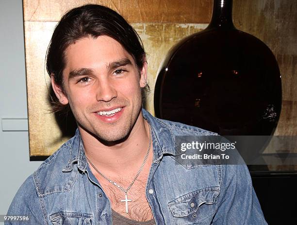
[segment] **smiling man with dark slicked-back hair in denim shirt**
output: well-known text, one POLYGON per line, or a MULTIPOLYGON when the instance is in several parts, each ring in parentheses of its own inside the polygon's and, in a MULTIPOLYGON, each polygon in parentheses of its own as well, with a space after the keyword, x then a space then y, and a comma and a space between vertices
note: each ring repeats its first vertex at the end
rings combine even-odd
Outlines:
POLYGON ((55 110, 69 104, 78 130, 24 182, 8 215, 45 225, 266 224, 245 165, 176 160, 176 136, 215 134, 141 107, 145 52, 116 12, 66 13, 47 70, 55 110))

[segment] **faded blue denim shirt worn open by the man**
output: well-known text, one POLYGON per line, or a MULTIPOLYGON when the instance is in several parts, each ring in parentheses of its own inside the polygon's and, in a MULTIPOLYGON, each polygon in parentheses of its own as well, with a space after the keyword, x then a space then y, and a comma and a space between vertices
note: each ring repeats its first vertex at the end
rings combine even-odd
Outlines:
MULTIPOLYGON (((175 136, 216 134, 142 112, 152 132, 146 197, 157 225, 266 224, 246 165, 189 167, 175 160, 175 136)), ((32 225, 112 224, 110 202, 91 173, 78 131, 27 178, 7 214, 29 215, 32 225)))

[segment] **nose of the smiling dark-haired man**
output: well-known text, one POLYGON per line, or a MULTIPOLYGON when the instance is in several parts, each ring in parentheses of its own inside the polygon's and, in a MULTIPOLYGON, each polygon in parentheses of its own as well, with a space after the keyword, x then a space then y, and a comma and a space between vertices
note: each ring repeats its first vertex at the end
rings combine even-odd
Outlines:
POLYGON ((110 102, 117 97, 117 92, 113 84, 108 80, 100 80, 97 87, 96 99, 97 101, 110 102))

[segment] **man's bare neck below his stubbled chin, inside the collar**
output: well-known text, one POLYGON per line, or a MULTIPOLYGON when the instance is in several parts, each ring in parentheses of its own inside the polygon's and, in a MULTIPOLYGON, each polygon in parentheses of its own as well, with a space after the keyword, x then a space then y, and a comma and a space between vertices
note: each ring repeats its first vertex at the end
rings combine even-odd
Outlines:
POLYGON ((106 145, 82 129, 80 132, 85 154, 99 171, 118 175, 123 173, 123 168, 126 172, 127 170, 134 172, 134 167, 136 170, 139 169, 138 167, 148 151, 148 130, 148 122, 140 112, 132 131, 122 142, 106 145))

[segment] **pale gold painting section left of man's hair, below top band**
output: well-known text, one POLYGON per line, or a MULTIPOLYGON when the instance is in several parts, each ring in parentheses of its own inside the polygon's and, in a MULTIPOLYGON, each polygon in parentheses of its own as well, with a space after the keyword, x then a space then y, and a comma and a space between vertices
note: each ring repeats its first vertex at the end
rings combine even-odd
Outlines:
POLYGON ((25 45, 30 49, 26 51, 30 155, 50 155, 53 148, 61 145, 61 131, 53 114, 49 114, 49 77, 44 67, 56 22, 25 22, 24 25, 25 45))

